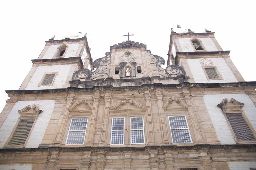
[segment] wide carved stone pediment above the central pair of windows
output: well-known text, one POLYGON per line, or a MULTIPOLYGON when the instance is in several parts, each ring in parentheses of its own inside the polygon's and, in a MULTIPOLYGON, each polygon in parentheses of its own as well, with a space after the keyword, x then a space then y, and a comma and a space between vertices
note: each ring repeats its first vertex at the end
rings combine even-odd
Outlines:
POLYGON ((146 110, 146 106, 142 105, 135 100, 121 100, 117 104, 109 107, 109 110, 113 111, 141 111, 146 110))

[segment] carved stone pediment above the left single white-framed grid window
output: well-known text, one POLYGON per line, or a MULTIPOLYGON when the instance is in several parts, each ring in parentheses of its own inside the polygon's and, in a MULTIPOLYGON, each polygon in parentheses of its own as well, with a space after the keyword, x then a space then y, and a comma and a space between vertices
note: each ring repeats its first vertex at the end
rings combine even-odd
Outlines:
POLYGON ((89 103, 88 100, 85 101, 76 101, 70 108, 70 112, 85 112, 92 111, 94 107, 89 103))

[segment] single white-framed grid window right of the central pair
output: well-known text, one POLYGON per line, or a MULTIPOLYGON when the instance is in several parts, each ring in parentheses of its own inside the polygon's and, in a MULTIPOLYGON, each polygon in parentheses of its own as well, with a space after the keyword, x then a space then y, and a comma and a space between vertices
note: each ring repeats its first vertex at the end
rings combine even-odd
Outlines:
POLYGON ((169 116, 173 143, 192 143, 186 116, 169 116))

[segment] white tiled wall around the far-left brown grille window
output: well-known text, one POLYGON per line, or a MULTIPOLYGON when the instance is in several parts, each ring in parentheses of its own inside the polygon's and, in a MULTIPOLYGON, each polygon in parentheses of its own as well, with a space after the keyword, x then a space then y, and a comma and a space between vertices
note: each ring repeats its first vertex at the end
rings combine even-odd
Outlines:
POLYGON ((3 148, 11 132, 13 131, 14 126, 16 125, 18 118, 20 117, 18 110, 21 110, 27 105, 32 106, 33 104, 36 104, 43 112, 40 113, 37 118, 26 148, 37 148, 39 144, 41 144, 55 105, 54 100, 18 101, 15 103, 10 114, 7 116, 5 122, 0 128, 0 148, 3 148))

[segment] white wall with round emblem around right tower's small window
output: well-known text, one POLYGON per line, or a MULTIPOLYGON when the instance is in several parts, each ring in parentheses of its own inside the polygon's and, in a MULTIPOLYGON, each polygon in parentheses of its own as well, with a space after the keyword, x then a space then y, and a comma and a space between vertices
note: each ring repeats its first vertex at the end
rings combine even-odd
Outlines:
MULTIPOLYGON (((200 64, 201 58, 187 59, 187 63, 195 80, 195 83, 228 83, 238 82, 230 67, 225 62, 224 58, 211 58, 214 62, 223 80, 207 80, 202 65, 200 64)), ((186 71, 186 70, 185 70, 186 71)))

